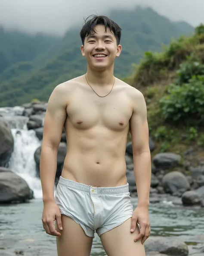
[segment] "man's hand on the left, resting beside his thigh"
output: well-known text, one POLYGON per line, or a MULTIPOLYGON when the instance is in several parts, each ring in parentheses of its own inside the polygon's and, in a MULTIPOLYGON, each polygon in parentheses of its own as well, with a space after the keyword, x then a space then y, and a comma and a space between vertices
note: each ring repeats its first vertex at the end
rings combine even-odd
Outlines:
POLYGON ((42 222, 43 228, 47 234, 51 236, 60 236, 61 234, 56 231, 54 221, 56 220, 57 226, 62 230, 61 213, 59 207, 55 202, 44 203, 42 222))

